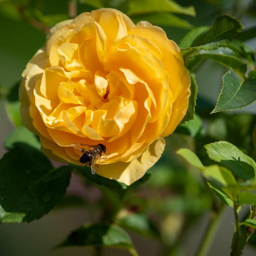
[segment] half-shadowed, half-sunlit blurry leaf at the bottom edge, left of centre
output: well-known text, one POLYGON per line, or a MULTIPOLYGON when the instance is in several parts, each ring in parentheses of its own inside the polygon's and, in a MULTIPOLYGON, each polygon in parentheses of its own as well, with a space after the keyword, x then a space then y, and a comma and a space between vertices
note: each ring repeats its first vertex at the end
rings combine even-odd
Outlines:
POLYGON ((133 244, 128 233, 121 227, 110 224, 90 224, 84 225, 72 232, 63 246, 102 246, 119 248, 124 250, 133 249, 133 244))

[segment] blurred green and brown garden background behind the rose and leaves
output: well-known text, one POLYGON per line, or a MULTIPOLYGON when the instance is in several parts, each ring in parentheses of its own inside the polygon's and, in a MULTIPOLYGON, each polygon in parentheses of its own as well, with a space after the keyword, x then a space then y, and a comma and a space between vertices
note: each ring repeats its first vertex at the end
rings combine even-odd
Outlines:
MULTIPOLYGON (((196 16, 175 14, 174 18, 167 19, 163 15, 162 19, 159 19, 161 16, 156 19, 152 15, 131 15, 131 18, 134 22, 148 18, 153 25, 163 27, 167 36, 177 43, 193 27, 211 26, 221 14, 235 16, 241 20, 245 29, 256 25, 253 0, 180 0, 178 4, 184 7, 193 5, 196 16)), ((0 0, 0 95, 15 84, 12 90, 17 90, 27 61, 44 46, 45 31, 49 26, 102 6, 127 12, 126 0, 0 0)), ((246 41, 246 44, 255 50, 255 40, 246 41)), ((199 87, 196 113, 200 118, 196 117, 195 128, 188 135, 176 131, 166 138, 163 157, 148 170, 150 179, 125 197, 117 222, 127 227, 139 255, 194 255, 204 234, 209 220, 211 197, 199 171, 177 157, 175 151, 178 148, 189 147, 195 150, 202 162, 209 164, 203 145, 228 140, 255 159, 251 142, 256 121, 255 103, 244 110, 209 115, 221 90, 221 78, 227 70, 207 60, 193 71, 199 87), (133 225, 125 222, 125 217, 131 215, 135 216, 133 225), (141 220, 140 217, 144 215, 147 219, 141 220), (144 223, 144 226, 138 230, 134 223, 144 223)), ((18 109, 18 106, 17 98, 9 102, 0 99, 1 157, 5 153, 2 146, 4 138, 14 128, 5 109, 18 109)), ((19 126, 21 121, 16 119, 15 122, 19 126)), ((72 230, 84 223, 97 222, 102 202, 114 207, 116 200, 115 193, 98 189, 74 174, 67 197, 48 215, 29 224, 1 224, 0 255, 91 255, 93 251, 87 247, 53 250, 53 246, 60 244, 72 230)), ((246 210, 242 211, 246 213, 246 210)), ((231 222, 234 219, 230 208, 223 215, 208 255, 229 255, 234 232, 231 222)), ((128 255, 128 252, 105 249, 103 255, 128 255)), ((253 245, 246 245, 244 255, 256 255, 253 245)))

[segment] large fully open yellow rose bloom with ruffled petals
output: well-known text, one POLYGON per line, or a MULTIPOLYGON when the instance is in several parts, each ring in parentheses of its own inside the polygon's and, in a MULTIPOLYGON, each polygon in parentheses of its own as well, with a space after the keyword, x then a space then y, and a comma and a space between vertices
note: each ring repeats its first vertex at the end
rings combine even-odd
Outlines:
POLYGON ((21 114, 42 151, 78 161, 72 143, 106 145, 98 174, 129 185, 161 157, 188 108, 191 79, 175 42, 120 11, 54 26, 23 71, 21 114))

